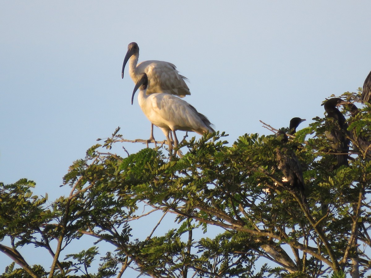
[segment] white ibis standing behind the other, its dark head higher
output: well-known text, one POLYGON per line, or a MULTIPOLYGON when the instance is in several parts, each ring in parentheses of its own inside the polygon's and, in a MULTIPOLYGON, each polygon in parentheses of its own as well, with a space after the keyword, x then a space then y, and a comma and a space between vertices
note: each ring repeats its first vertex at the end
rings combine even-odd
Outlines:
MULTIPOLYGON (((180 75, 177 68, 172 63, 149 60, 138 64, 139 47, 135 42, 129 43, 128 51, 122 64, 121 78, 124 78, 124 69, 129 61, 129 74, 134 83, 137 83, 141 78, 141 73, 146 73, 148 77, 147 94, 151 93, 167 93, 179 97, 190 95, 189 88, 184 80, 187 80, 183 75, 180 75)), ((153 137, 153 125, 151 125, 151 136, 153 137)))

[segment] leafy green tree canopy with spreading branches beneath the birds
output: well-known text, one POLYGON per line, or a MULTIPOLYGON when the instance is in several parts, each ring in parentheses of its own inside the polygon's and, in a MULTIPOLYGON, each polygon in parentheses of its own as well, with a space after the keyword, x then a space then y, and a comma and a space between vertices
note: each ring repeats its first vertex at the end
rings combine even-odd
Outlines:
POLYGON ((183 140, 184 155, 169 158, 162 145, 111 153, 126 141, 117 129, 73 162, 64 176, 69 196, 50 205, 33 196, 32 181, 0 183, 0 251, 20 266, 1 277, 125 277, 129 269, 184 278, 370 275, 370 112, 370 105, 344 105, 349 166, 334 166, 338 152, 326 137, 338 128, 333 119, 313 118, 289 136, 305 198, 283 179, 283 143, 273 132, 233 144, 224 132, 207 134, 183 140), (147 234, 138 238, 138 231, 147 234), (92 246, 69 253, 89 237, 92 246), (45 250, 50 267, 43 259, 29 265, 25 245, 45 250))

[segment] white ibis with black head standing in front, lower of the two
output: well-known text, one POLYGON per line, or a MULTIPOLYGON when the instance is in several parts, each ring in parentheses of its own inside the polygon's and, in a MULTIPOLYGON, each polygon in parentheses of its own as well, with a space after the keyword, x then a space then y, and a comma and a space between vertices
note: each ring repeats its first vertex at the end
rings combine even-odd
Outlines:
POLYGON ((131 96, 133 104, 134 94, 140 88, 138 102, 144 115, 150 122, 158 126, 165 134, 170 155, 173 153, 173 145, 169 138, 169 133, 174 134, 174 147, 178 145, 175 130, 194 131, 200 135, 207 132, 214 132, 211 123, 206 116, 198 113, 196 108, 177 96, 167 93, 147 93, 148 77, 146 73, 140 75, 135 84, 131 96))

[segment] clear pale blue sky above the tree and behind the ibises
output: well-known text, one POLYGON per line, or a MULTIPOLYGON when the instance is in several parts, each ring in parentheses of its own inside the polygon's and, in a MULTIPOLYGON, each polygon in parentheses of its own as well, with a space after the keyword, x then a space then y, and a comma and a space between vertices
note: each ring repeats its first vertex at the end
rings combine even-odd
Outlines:
POLYGON ((297 116, 306 126, 323 116, 325 97, 363 85, 370 10, 369 1, 1 1, 0 181, 32 179, 53 201, 97 138, 117 126, 148 138, 150 123, 130 104, 134 83, 127 71, 121 79, 130 42, 139 62, 178 67, 190 80, 185 100, 230 143, 269 134, 259 120, 280 128, 297 116))

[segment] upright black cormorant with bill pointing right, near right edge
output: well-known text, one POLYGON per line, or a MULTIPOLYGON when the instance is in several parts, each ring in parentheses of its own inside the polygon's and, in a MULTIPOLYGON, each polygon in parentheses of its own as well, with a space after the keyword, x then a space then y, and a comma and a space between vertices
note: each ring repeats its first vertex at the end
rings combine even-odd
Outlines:
MULTIPOLYGON (((326 119, 334 119, 337 126, 329 127, 330 130, 325 132, 326 137, 332 141, 331 146, 335 153, 339 153, 336 156, 337 165, 336 168, 341 165, 348 166, 348 152, 349 152, 349 139, 347 138, 347 128, 348 124, 345 120, 343 114, 339 111, 336 106, 348 104, 342 99, 335 97, 329 100, 326 100, 324 103, 325 111, 327 112, 326 119), (341 153, 341 154, 340 154, 341 153)), ((336 169, 335 168, 335 169, 336 169)))

